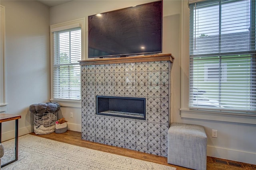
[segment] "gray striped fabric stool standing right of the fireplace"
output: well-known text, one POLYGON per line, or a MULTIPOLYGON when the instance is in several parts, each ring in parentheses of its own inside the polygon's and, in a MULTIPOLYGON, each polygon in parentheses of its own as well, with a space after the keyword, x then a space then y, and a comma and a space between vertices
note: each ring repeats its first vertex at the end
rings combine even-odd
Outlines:
POLYGON ((204 127, 172 123, 167 138, 168 164, 206 170, 207 136, 204 127))

